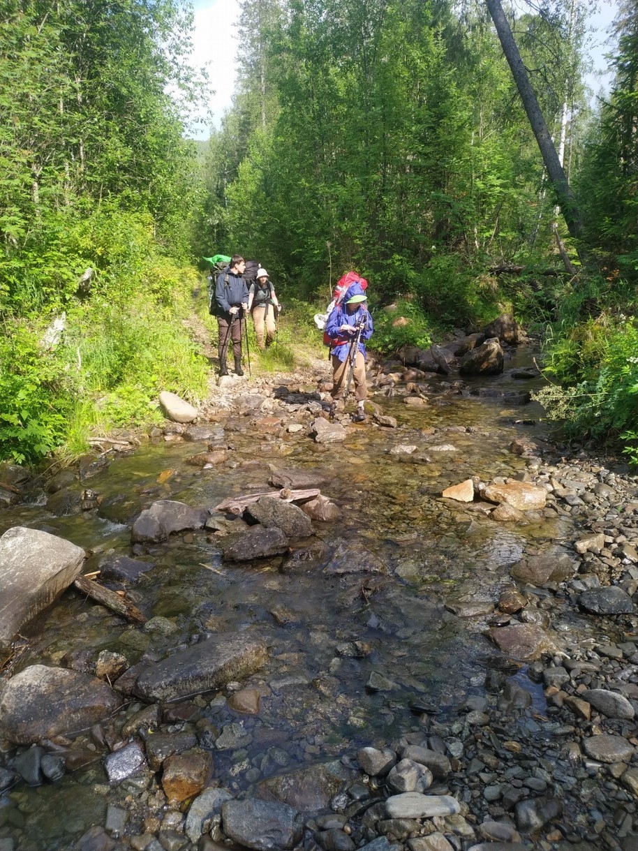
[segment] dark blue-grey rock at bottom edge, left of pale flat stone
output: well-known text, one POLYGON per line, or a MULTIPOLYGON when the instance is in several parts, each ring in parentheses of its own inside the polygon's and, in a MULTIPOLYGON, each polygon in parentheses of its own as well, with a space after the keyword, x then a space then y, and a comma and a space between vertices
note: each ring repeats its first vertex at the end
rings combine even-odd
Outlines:
POLYGON ((221 817, 226 836, 257 851, 293 848, 303 833, 297 811, 282 803, 254 799, 226 801, 221 817))

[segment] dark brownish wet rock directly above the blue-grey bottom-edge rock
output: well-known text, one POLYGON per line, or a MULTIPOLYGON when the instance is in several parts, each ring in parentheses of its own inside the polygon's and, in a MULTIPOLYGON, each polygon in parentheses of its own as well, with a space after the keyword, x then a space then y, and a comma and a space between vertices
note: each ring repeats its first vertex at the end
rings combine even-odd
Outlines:
POLYGON ((267 801, 279 801, 304 812, 313 812, 328 808, 344 785, 345 777, 339 763, 317 763, 262 780, 257 794, 267 801))

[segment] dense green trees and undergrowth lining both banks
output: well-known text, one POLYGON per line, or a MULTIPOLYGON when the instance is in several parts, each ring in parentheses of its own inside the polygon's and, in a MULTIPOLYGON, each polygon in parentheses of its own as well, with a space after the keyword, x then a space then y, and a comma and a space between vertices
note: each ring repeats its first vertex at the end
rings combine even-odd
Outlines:
POLYGON ((568 202, 495 0, 244 0, 236 95, 203 153, 187 5, 0 3, 2 457, 72 457, 152 420, 161 389, 201 399, 198 258, 239 250, 299 322, 361 271, 373 310, 409 319, 379 313, 385 353, 514 311, 543 340, 549 414, 636 460, 636 0, 595 107, 588 4, 503 4, 568 202))

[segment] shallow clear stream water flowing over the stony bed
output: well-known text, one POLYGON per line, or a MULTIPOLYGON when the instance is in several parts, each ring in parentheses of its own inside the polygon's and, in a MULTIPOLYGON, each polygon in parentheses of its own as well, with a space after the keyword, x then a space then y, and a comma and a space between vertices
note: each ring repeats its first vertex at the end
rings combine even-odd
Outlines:
MULTIPOLYGON (((516 357, 530 362, 528 351, 516 357)), ((472 389, 520 394, 538 386, 538 380, 499 377, 472 389)), ((204 530, 150 546, 137 557, 154 567, 130 597, 147 618, 169 619, 172 634, 127 625, 67 591, 30 625, 14 672, 35 663, 60 665, 81 651, 94 659, 105 648, 130 663, 156 660, 194 636, 218 631, 265 637, 270 659, 246 683, 261 694, 259 716, 238 718, 225 692, 200 699, 211 746, 225 725, 241 724, 244 738, 236 748, 214 756, 215 778, 236 791, 282 768, 396 739, 418 729, 424 711, 445 717, 468 694, 482 694, 495 653, 482 634, 485 619, 459 618, 445 604, 495 602, 523 550, 534 545, 540 551, 569 528, 557 519, 495 523, 442 500, 441 491, 471 476, 487 481, 525 471, 527 461, 509 446, 515 437, 547 431, 542 411, 535 403, 510 405, 502 395, 452 389, 434 394, 425 408, 409 408, 401 397, 373 398, 398 428, 350 426, 345 443, 322 446, 304 432, 259 435, 254 418, 231 416, 220 422, 232 446, 226 465, 188 465, 201 451, 197 444, 151 443, 88 482, 103 497, 97 513, 57 518, 36 504, 5 512, 0 532, 14 525, 53 531, 93 553, 90 569, 105 555, 131 555, 132 519, 152 501, 212 508, 228 496, 268 489, 274 470, 328 475, 322 494, 341 510, 336 523, 314 523, 316 537, 292 557, 224 563, 219 539, 204 530), (406 444, 416 451, 390 454, 406 444), (349 557, 365 560, 366 552, 383 572, 324 572, 331 558, 343 564, 349 557), (369 687, 372 674, 389 680, 387 689, 369 687)), ((0 799, 0 829, 43 833, 46 848, 66 848, 88 826, 104 823, 106 792, 100 762, 56 785, 20 785, 0 799)))

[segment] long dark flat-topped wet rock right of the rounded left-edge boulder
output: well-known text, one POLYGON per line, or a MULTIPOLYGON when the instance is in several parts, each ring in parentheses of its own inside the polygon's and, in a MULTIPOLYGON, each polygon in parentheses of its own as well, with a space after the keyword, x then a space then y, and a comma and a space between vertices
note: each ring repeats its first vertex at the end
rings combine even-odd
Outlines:
POLYGON ((265 643, 244 633, 222 633, 147 668, 135 691, 146 700, 179 700, 242 680, 268 658, 265 643))

